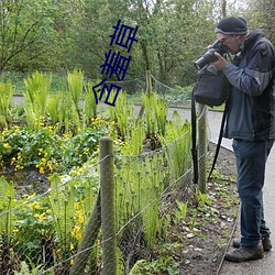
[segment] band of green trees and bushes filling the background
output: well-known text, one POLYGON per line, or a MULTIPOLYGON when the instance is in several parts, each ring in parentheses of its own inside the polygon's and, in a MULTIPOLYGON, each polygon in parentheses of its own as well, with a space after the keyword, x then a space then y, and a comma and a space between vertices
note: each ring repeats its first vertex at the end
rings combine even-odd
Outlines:
POLYGON ((251 30, 263 28, 275 41, 271 0, 16 0, 1 1, 0 10, 0 72, 78 68, 101 78, 119 19, 139 25, 125 80, 151 70, 169 86, 193 84, 193 63, 215 41, 213 28, 226 15, 244 16, 251 30))

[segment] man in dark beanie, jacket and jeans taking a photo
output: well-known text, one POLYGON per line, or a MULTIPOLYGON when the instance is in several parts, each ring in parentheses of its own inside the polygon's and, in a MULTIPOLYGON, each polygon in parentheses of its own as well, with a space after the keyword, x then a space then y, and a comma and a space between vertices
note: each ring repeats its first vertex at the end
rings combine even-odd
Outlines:
POLYGON ((263 186, 265 164, 275 139, 275 51, 261 30, 248 32, 242 18, 222 19, 216 36, 223 42, 233 62, 215 53, 212 65, 223 70, 231 84, 224 138, 233 139, 241 199, 241 240, 226 258, 243 262, 263 257, 272 249, 264 220, 263 186))

